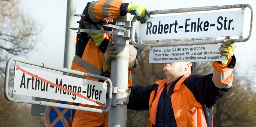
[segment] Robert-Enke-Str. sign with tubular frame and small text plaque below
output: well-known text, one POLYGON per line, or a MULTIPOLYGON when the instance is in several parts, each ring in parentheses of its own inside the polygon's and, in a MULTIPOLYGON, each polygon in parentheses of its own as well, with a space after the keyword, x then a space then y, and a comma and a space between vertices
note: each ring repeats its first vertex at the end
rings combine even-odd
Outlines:
POLYGON ((141 41, 238 36, 237 39, 231 39, 231 41, 245 42, 251 36, 253 10, 248 4, 156 10, 150 11, 150 13, 152 16, 147 18, 146 23, 139 25, 139 42, 135 41, 136 18, 133 18, 131 26, 132 44, 136 47, 151 47, 149 63, 223 61, 226 60, 226 57, 222 57, 218 49, 219 44, 226 40, 208 39, 157 43, 142 43, 141 41), (231 8, 241 8, 241 10, 158 15, 231 8), (243 38, 245 8, 249 8, 251 11, 251 21, 249 34, 243 38))

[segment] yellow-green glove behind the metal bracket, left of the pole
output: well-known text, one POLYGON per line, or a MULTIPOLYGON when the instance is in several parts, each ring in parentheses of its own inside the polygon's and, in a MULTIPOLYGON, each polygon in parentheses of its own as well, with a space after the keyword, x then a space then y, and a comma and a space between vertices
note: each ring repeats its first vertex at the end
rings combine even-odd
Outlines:
MULTIPOLYGON (((104 28, 100 24, 98 24, 97 27, 98 27, 98 30, 102 30, 102 31, 104 30, 104 28)), ((92 25, 92 24, 90 24, 90 26, 86 25, 85 29, 95 29, 95 30, 97 30, 97 28, 95 28, 95 26, 92 25)), ((103 33, 89 33, 89 32, 87 32, 87 34, 90 37, 90 39, 92 40, 92 42, 95 43, 96 46, 100 46, 101 42, 104 41, 104 39, 105 39, 103 33)))

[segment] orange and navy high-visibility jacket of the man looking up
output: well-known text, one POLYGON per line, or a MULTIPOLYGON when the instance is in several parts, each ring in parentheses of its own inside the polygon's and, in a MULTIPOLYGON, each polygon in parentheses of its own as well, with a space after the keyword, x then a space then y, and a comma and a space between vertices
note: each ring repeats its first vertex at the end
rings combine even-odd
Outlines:
MULTIPOLYGON (((235 58, 233 58, 234 67, 235 58)), ((171 106, 177 127, 212 127, 212 106, 231 89, 233 73, 222 63, 212 62, 209 75, 183 75, 174 84, 171 106)), ((156 126, 157 106, 166 80, 154 85, 131 86, 128 109, 149 109, 148 127, 156 126)), ((173 124, 173 123, 172 123, 173 124)), ((175 125, 175 126, 176 126, 175 125)))

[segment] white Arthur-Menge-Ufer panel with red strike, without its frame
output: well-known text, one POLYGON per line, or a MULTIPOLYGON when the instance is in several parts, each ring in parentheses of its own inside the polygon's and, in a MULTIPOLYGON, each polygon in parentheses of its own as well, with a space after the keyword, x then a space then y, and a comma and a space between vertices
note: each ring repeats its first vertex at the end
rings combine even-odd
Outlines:
POLYGON ((16 68, 13 94, 105 107, 107 83, 19 66, 16 68))

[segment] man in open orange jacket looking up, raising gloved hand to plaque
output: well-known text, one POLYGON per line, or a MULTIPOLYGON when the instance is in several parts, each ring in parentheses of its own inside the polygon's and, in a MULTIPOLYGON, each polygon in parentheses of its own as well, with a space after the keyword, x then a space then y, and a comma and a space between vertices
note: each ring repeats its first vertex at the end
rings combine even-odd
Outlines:
POLYGON ((165 80, 129 87, 127 108, 149 109, 148 127, 212 127, 212 106, 232 86, 234 48, 230 40, 221 44, 220 54, 228 60, 212 62, 213 73, 209 75, 191 75, 194 62, 164 63, 165 80))

